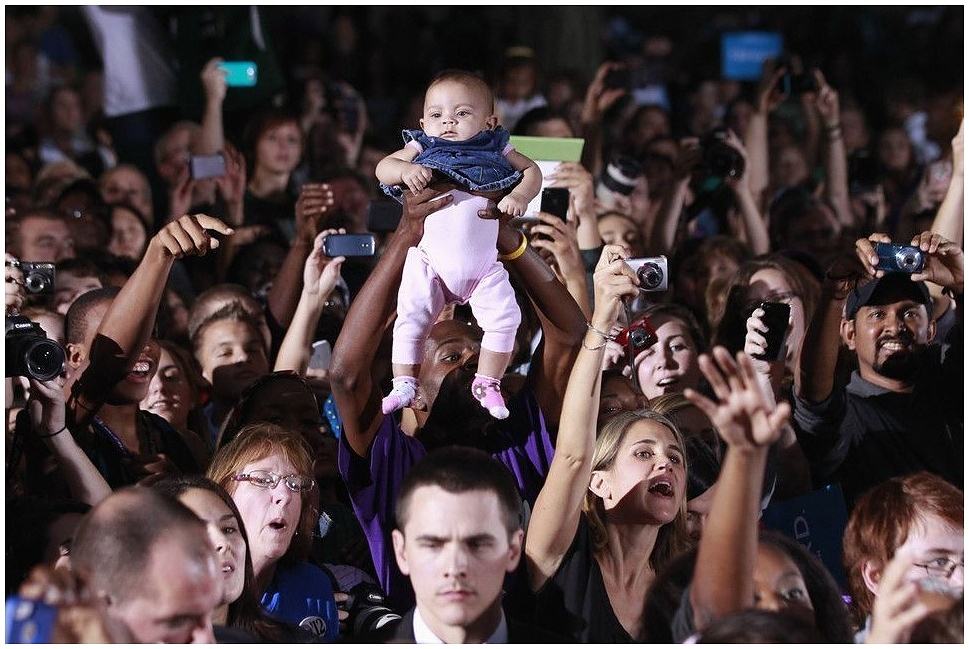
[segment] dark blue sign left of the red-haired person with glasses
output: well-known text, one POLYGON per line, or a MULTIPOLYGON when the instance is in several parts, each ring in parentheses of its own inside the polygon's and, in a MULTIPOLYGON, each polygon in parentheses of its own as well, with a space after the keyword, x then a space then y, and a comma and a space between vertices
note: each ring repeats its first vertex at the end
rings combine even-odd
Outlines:
POLYGON ((838 585, 845 588, 841 542, 848 525, 848 509, 841 487, 828 485, 798 498, 771 504, 764 510, 761 522, 814 553, 838 585))

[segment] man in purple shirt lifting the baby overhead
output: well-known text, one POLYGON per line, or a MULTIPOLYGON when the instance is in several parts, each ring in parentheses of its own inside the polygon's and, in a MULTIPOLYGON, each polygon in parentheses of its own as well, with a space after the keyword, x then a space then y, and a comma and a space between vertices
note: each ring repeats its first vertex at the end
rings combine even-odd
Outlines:
POLYGON ((413 606, 413 592, 394 561, 390 531, 397 490, 407 472, 429 449, 474 446, 501 461, 524 499, 534 502, 554 449, 549 429, 558 423, 569 372, 585 332, 582 312, 565 287, 534 250, 516 254, 523 235, 502 223, 498 252, 512 257, 505 263, 535 304, 543 334, 525 385, 515 395, 504 395, 511 415, 495 420, 471 396, 480 331, 445 320, 434 326, 425 345, 416 407, 404 411, 400 424, 384 416, 379 381, 386 368, 375 363, 376 341, 385 334, 404 258, 420 241, 424 218, 452 200, 450 194, 439 198, 441 194, 439 188, 406 194, 400 225, 347 314, 330 368, 333 396, 343 420, 340 473, 367 535, 380 584, 402 609, 413 606))

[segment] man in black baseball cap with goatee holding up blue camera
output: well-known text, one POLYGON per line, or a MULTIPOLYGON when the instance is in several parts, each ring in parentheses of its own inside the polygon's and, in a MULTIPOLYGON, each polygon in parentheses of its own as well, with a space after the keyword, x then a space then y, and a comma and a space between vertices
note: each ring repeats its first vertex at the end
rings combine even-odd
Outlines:
POLYGON ((795 392, 798 440, 816 486, 840 482, 849 506, 889 478, 926 470, 962 487, 963 252, 925 232, 911 245, 924 263, 915 273, 878 269, 873 234, 856 242, 867 280, 836 264, 805 337, 795 392), (954 301, 931 320, 925 282, 954 301), (840 344, 857 369, 839 381, 840 344))

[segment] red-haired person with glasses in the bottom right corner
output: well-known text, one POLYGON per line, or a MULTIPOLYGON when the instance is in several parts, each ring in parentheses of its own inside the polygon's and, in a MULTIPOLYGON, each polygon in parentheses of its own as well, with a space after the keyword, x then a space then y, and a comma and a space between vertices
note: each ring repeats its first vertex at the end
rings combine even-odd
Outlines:
POLYGON ((909 642, 922 620, 954 605, 964 538, 962 491, 931 473, 892 478, 858 499, 843 539, 855 640, 909 642))

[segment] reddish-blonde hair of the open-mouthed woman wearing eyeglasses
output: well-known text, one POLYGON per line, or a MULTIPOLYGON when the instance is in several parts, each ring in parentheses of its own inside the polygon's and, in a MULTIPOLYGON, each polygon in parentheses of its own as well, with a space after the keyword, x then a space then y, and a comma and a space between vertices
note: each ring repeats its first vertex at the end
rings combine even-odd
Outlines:
MULTIPOLYGON (((303 438, 276 424, 265 422, 251 424, 240 430, 235 439, 215 454, 205 475, 232 495, 238 486, 233 477, 247 464, 270 455, 281 455, 298 473, 313 477, 313 458, 303 438)), ((314 487, 314 492, 315 489, 314 487)), ((289 548, 280 561, 298 562, 309 556, 313 527, 316 524, 312 515, 317 500, 314 492, 300 494, 299 523, 289 548)))

